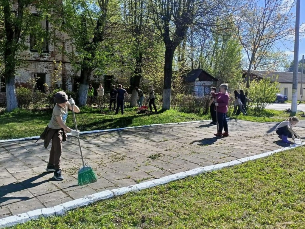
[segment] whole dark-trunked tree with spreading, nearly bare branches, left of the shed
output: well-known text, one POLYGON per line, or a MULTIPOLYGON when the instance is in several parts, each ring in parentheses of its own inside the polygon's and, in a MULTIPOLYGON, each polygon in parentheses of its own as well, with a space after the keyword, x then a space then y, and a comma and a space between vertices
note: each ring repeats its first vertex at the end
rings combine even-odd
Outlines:
POLYGON ((230 14, 237 1, 149 0, 152 19, 165 45, 162 110, 170 109, 174 52, 193 27, 213 27, 217 17, 230 14))

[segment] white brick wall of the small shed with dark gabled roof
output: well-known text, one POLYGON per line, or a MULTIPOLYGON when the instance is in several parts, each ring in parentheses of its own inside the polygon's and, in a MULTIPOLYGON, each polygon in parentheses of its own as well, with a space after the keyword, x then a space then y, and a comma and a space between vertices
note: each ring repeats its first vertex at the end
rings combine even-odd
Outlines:
POLYGON ((213 83, 213 81, 186 82, 186 93, 200 97, 209 95, 213 83))

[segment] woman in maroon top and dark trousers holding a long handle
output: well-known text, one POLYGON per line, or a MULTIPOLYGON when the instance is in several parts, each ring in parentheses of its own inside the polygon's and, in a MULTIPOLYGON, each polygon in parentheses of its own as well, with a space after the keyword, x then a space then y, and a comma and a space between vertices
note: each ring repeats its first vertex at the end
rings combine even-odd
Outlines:
POLYGON ((212 96, 216 97, 215 106, 217 107, 217 119, 218 119, 218 133, 214 134, 215 136, 229 136, 228 122, 226 113, 228 112, 229 104, 229 94, 227 92, 228 86, 226 84, 221 84, 219 86, 219 93, 212 92, 212 96), (222 133, 224 129, 224 133, 222 133))

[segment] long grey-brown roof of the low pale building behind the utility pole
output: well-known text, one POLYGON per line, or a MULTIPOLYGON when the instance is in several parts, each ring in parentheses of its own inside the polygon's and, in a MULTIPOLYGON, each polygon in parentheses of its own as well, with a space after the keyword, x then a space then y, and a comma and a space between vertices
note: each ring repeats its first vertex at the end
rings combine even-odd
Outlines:
MULTIPOLYGON (((247 70, 243 70, 243 75, 247 74, 247 70)), ((292 83, 292 75, 293 72, 288 71, 258 71, 253 70, 251 71, 253 76, 258 76, 261 78, 272 78, 272 81, 275 81, 276 76, 278 75, 278 82, 279 83, 292 83)), ((301 83, 301 73, 298 73, 298 83, 301 83)), ((305 74, 303 74, 303 83, 305 83, 305 74)))

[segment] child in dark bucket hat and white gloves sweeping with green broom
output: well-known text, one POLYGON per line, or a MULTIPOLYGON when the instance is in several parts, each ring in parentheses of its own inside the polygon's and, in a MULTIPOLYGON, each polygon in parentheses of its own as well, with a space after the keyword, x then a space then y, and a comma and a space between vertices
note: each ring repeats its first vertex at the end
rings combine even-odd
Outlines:
POLYGON ((63 180, 60 170, 60 157, 63 151, 62 142, 66 141, 66 132, 71 133, 73 136, 79 136, 80 133, 80 131, 70 129, 65 123, 69 109, 72 110, 72 105, 74 105, 74 112, 78 113, 80 110, 75 105, 73 99, 68 100, 68 96, 63 91, 59 91, 55 94, 54 102, 56 105, 53 108, 51 120, 44 132, 40 135, 40 138, 45 140, 45 148, 48 147, 52 140, 50 158, 46 170, 48 172, 54 172, 53 178, 56 180, 63 180))

